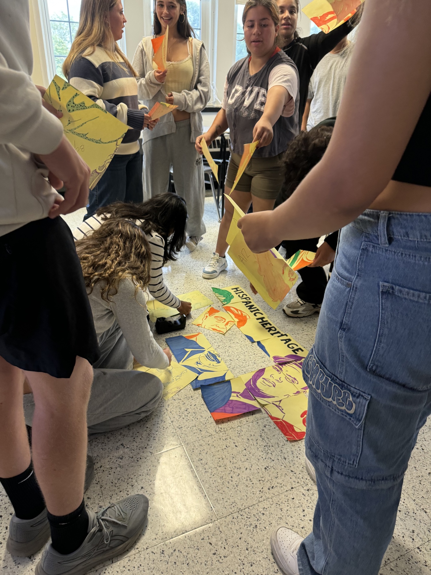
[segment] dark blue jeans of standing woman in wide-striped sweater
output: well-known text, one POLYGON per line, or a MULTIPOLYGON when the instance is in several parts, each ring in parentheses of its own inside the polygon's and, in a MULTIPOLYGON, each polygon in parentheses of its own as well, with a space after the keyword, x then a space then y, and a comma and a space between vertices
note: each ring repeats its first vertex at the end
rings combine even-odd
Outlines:
POLYGON ((102 206, 109 206, 114 202, 142 201, 144 201, 144 192, 140 152, 116 154, 106 168, 105 174, 93 190, 90 190, 84 220, 93 216, 102 206))

